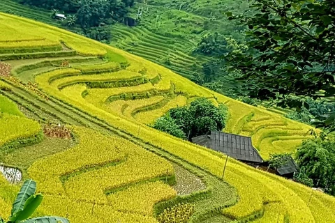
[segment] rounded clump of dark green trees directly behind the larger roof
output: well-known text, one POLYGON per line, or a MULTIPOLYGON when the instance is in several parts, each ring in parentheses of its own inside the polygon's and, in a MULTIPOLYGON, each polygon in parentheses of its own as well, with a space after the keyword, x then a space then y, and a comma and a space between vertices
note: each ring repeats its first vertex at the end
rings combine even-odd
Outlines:
MULTIPOLYGON (((202 134, 209 134, 211 130, 223 130, 227 118, 228 109, 225 105, 215 107, 207 98, 198 98, 191 102, 190 106, 170 109, 163 119, 156 121, 154 128, 158 129, 157 122, 160 124, 159 126, 163 124, 173 126, 184 132, 182 138, 190 140, 202 134)), ((159 130, 163 130, 163 128, 161 127, 159 130)))

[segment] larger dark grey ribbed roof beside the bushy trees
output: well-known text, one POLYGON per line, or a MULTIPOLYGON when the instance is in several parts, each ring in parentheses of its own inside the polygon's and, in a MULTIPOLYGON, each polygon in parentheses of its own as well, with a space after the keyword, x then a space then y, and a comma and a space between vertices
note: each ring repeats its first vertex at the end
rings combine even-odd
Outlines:
POLYGON ((193 143, 220 151, 237 160, 248 162, 263 162, 260 153, 253 147, 251 137, 237 134, 211 131, 211 135, 202 135, 192 138, 193 143))

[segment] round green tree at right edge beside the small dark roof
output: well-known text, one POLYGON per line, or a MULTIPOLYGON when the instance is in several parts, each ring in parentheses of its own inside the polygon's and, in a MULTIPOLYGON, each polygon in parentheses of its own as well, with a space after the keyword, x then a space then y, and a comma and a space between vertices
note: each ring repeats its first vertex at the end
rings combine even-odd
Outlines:
POLYGON ((304 174, 313 180, 313 185, 335 194, 330 185, 335 182, 335 141, 328 137, 308 139, 297 148, 296 160, 304 167, 304 174))

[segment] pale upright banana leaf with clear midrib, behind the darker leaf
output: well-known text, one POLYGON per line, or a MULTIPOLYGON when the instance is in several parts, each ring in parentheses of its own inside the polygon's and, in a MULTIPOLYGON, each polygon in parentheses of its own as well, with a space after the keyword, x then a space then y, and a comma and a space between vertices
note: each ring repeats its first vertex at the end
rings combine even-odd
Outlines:
POLYGON ((36 192, 36 182, 34 180, 26 180, 21 187, 20 192, 17 194, 17 197, 13 203, 12 216, 20 210, 23 210, 24 203, 27 199, 34 195, 36 192))

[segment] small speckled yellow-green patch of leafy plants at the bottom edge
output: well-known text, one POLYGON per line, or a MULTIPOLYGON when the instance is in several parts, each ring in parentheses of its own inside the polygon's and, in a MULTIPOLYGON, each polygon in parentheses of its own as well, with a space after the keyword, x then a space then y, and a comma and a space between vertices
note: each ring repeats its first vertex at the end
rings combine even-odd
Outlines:
POLYGON ((194 206, 190 203, 178 203, 172 208, 167 208, 158 215, 161 223, 186 223, 194 213, 194 206))

